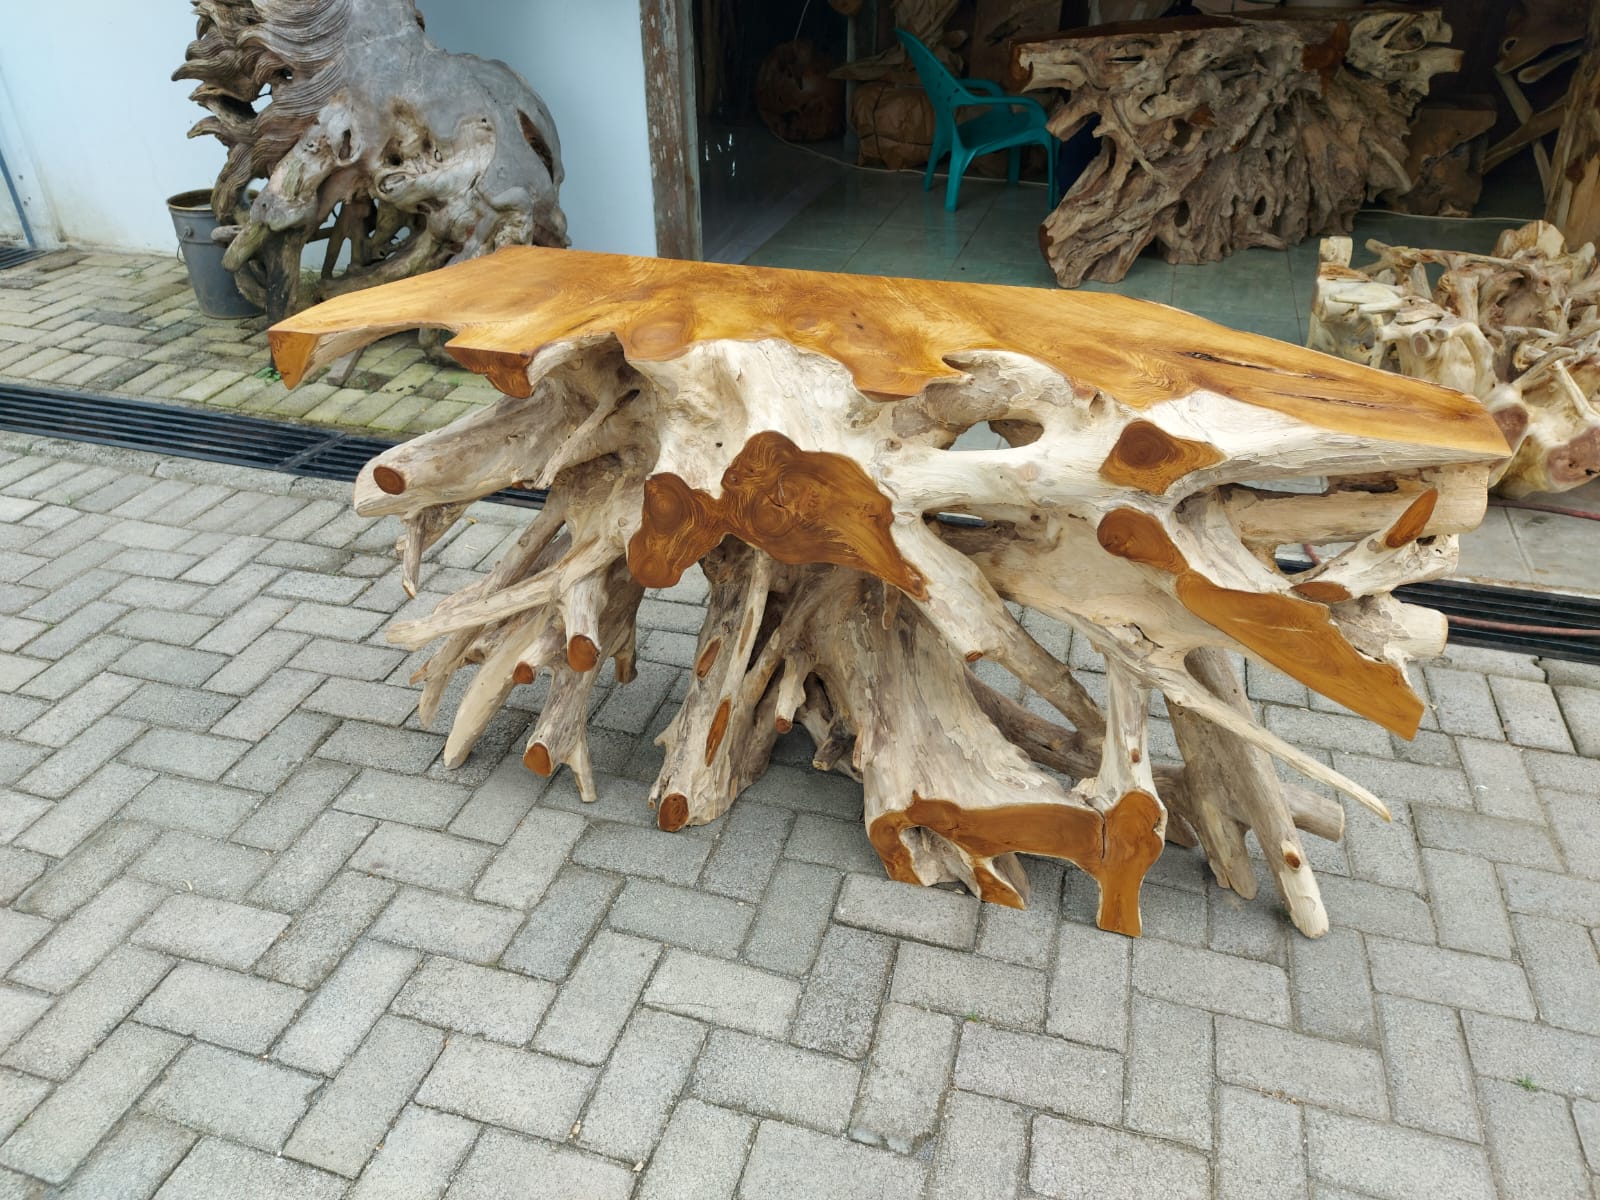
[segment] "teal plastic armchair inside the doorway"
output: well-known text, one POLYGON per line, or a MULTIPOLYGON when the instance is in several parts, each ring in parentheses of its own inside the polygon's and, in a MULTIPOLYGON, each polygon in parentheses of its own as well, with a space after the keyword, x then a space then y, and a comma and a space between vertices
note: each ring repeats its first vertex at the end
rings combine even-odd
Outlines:
POLYGON ((1050 206, 1056 206, 1056 138, 1045 128, 1045 106, 1032 96, 1006 96, 998 83, 982 78, 955 78, 920 40, 896 29, 894 37, 906 46, 917 77, 922 80, 936 118, 933 152, 922 190, 933 187, 939 160, 950 155, 950 179, 944 186, 944 211, 954 213, 962 192, 962 174, 979 154, 1010 150, 1006 181, 1016 182, 1022 171, 1022 147, 1043 146, 1050 170, 1050 206), (957 120, 962 109, 987 109, 979 117, 957 120))

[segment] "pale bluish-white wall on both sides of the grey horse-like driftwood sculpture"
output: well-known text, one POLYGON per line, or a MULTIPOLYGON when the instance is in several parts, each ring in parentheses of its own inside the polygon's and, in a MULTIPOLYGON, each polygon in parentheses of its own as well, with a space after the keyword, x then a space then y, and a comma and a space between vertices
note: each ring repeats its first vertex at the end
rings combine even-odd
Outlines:
MULTIPOLYGON (((419 0, 445 50, 499 58, 555 117, 562 208, 581 250, 656 251, 638 0, 419 0)), ((174 250, 166 197, 210 187, 214 138, 170 80, 182 0, 0 0, 0 150, 45 243, 174 250)), ((16 219, 0 189, 0 235, 16 219)))

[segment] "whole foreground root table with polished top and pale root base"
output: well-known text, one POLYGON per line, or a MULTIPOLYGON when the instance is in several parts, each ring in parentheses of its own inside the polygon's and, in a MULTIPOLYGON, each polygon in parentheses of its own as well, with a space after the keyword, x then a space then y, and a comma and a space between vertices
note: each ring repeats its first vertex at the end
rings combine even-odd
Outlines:
POLYGON ((1450 570, 1506 451, 1482 408, 1432 384, 1034 288, 502 250, 330 301, 272 347, 293 386, 416 325, 458 330, 450 354, 506 398, 363 469, 357 510, 403 518, 406 589, 470 501, 549 488, 483 581, 389 632, 443 640, 418 672, 424 722, 477 664, 446 763, 547 672, 523 760, 565 763, 592 797, 600 669, 634 675, 643 589, 699 562, 709 611, 659 738, 662 829, 722 814, 798 725, 818 766, 861 779, 891 877, 1021 906, 1018 853, 1069 859, 1123 933, 1163 835, 1198 838, 1253 896, 1246 832, 1294 923, 1326 930, 1298 830, 1338 837, 1342 811, 1270 758, 1382 803, 1258 725, 1227 651, 1410 736, 1422 702, 1403 666, 1445 622, 1389 592, 1450 570), (982 422, 1008 448, 950 450, 982 422), (1272 486, 1307 475, 1326 488, 1272 486), (1301 541, 1350 546, 1282 574, 1274 547, 1301 541), (1008 605, 1104 654, 1104 706, 1008 605), (979 659, 1014 686, 981 682, 979 659), (1152 762, 1152 691, 1181 766, 1152 762))

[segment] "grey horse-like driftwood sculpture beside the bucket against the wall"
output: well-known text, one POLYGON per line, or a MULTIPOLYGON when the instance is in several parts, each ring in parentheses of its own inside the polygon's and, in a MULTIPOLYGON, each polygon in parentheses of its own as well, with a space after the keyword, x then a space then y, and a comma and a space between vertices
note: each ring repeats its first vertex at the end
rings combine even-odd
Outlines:
POLYGON ((189 136, 227 147, 211 190, 222 264, 274 318, 499 246, 566 245, 544 101, 504 62, 429 42, 413 0, 192 3, 173 78, 198 80, 211 114, 189 136), (317 240, 310 283, 301 251, 317 240))

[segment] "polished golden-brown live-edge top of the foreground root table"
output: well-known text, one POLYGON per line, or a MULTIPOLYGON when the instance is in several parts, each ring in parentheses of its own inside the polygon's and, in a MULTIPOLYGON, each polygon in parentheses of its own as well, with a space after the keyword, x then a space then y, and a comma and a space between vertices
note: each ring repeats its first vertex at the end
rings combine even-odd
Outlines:
POLYGON ((528 395, 541 347, 605 334, 634 362, 723 338, 778 338, 837 360, 882 397, 958 379, 946 358, 989 349, 1037 358, 1133 408, 1211 390, 1379 442, 1504 453, 1493 421, 1448 389, 1109 293, 507 246, 328 301, 269 336, 293 387, 317 363, 418 326, 459 330, 445 349, 509 395, 528 395))

